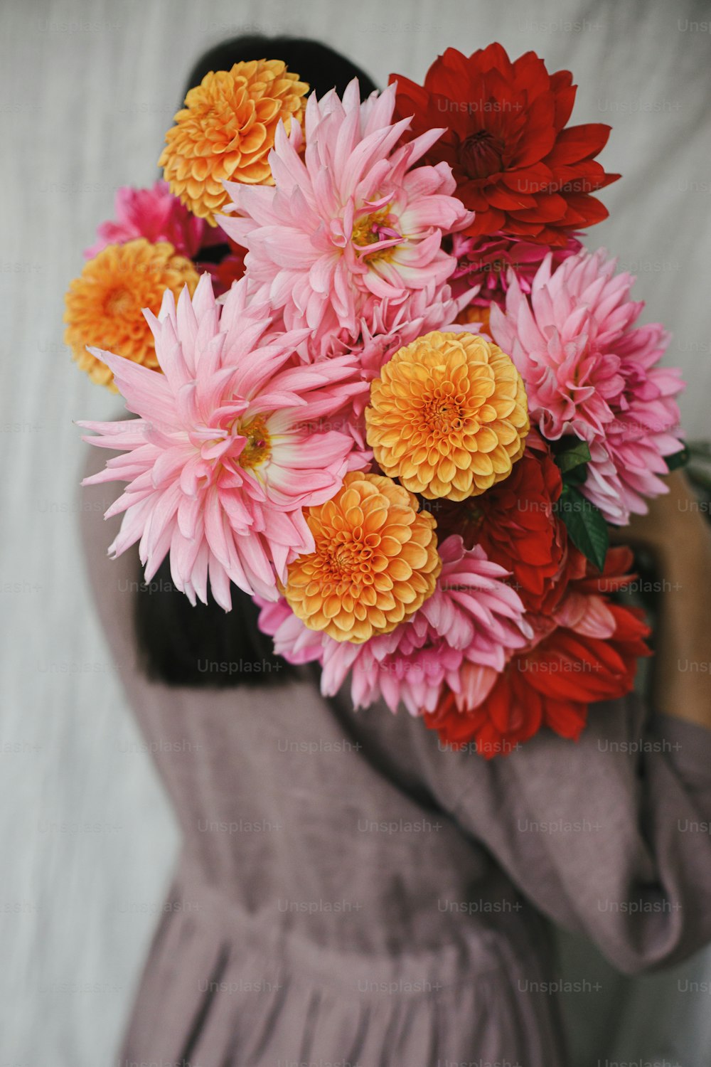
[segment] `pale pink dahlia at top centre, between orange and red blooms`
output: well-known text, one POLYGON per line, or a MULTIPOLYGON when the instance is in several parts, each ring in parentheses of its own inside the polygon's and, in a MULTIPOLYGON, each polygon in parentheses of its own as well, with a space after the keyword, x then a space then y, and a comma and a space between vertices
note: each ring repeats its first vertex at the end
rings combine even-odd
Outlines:
MULTIPOLYGON (((415 166, 442 133, 433 129, 395 147, 409 120, 392 123, 394 86, 360 102, 354 79, 341 101, 335 91, 308 98, 306 149, 292 123, 277 129, 273 187, 226 182, 239 218, 220 217, 243 244, 251 292, 284 309, 288 329, 307 327, 317 354, 334 339, 355 340, 360 319, 388 301, 430 301, 456 266, 442 236, 471 219, 453 195, 447 163, 415 166)), ((448 293, 449 297, 449 293, 448 293)))

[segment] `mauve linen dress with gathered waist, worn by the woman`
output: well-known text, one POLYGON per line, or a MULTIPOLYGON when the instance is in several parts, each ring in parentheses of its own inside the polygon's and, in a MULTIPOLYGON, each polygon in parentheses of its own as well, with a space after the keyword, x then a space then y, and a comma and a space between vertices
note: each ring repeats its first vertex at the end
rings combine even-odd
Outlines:
POLYGON ((308 679, 150 683, 136 555, 107 558, 117 488, 82 492, 98 611, 184 839, 119 1067, 565 1067, 543 917, 626 972, 711 939, 711 731, 629 699, 578 744, 486 762, 308 679))

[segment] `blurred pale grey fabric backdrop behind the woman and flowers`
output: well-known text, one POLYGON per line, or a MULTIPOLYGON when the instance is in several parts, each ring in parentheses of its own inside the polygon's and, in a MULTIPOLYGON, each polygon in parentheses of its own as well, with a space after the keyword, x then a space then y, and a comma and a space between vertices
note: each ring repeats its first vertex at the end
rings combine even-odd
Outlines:
MULTIPOLYGON (((72 364, 63 297, 123 185, 158 176, 197 57, 239 33, 312 36, 384 86, 447 46, 533 49, 613 127, 605 245, 674 334, 692 437, 711 426, 711 10, 689 0, 4 0, 0 14, 0 1067, 117 1055, 177 830, 98 628, 77 532, 76 418, 120 401, 72 364)), ((265 49, 269 52, 269 49, 265 49)), ((277 58, 271 57, 268 58, 277 58)), ((562 939, 571 1067, 711 1064, 711 952, 617 976, 562 939), (585 988, 588 988, 587 986, 585 988)))

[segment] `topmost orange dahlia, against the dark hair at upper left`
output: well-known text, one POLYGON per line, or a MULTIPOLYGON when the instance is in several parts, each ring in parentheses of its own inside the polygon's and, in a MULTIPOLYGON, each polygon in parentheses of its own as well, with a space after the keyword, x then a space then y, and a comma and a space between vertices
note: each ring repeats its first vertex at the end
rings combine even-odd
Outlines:
POLYGON ((277 124, 281 118, 288 133, 292 115, 302 121, 308 91, 281 60, 206 74, 165 134, 158 165, 171 192, 214 226, 215 212, 229 203, 223 181, 273 185, 266 157, 277 124))

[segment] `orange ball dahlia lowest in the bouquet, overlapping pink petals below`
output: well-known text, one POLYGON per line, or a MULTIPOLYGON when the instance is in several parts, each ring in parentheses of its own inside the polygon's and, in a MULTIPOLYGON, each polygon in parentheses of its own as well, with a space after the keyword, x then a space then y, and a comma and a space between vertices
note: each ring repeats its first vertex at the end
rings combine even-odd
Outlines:
POLYGON ((435 520, 390 478, 346 474, 306 522, 316 548, 290 563, 284 592, 311 630, 359 644, 390 633, 434 592, 442 566, 435 520))

